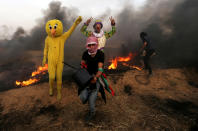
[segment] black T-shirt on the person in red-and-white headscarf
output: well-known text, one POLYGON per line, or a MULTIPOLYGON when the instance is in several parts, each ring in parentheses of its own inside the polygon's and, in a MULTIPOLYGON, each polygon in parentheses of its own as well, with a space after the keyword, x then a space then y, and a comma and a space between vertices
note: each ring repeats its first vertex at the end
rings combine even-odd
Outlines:
POLYGON ((104 63, 104 53, 100 50, 97 51, 94 57, 88 54, 86 50, 83 53, 82 60, 84 60, 87 64, 87 71, 90 75, 96 74, 98 72, 98 63, 104 63))

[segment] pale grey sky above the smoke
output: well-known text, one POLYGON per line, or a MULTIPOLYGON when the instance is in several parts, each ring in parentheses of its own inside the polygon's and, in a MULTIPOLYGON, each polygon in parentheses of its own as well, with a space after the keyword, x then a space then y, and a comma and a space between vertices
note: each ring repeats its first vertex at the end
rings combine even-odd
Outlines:
MULTIPOLYGON (((0 30, 9 28, 15 31, 19 26, 29 30, 42 18, 43 11, 52 0, 0 0, 0 30), (6 25, 6 26, 5 26, 6 25)), ((54 0, 56 1, 56 0, 54 0)), ((79 15, 84 17, 97 16, 111 9, 119 12, 124 3, 129 1, 138 10, 146 0, 59 0, 62 6, 77 8, 79 15)))

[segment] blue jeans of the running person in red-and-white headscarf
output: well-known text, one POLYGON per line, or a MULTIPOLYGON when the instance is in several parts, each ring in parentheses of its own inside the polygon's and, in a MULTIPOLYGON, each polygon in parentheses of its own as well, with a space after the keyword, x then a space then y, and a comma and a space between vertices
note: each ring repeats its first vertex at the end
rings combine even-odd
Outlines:
POLYGON ((80 99, 85 104, 87 101, 89 101, 89 109, 90 113, 95 113, 95 102, 98 95, 98 91, 100 88, 99 82, 96 82, 96 88, 90 89, 89 87, 86 87, 84 90, 80 93, 80 99))

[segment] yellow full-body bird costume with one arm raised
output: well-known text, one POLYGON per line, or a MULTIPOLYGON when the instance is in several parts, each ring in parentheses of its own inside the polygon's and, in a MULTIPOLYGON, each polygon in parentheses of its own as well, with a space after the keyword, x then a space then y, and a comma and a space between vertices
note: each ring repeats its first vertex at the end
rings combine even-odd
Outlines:
POLYGON ((64 61, 64 43, 74 31, 76 26, 82 21, 79 16, 73 23, 72 27, 63 33, 63 25, 60 20, 50 20, 46 23, 46 32, 48 36, 45 39, 43 65, 48 59, 48 73, 49 73, 49 95, 53 95, 53 86, 56 77, 57 82, 57 99, 61 99, 62 88, 62 72, 64 61))

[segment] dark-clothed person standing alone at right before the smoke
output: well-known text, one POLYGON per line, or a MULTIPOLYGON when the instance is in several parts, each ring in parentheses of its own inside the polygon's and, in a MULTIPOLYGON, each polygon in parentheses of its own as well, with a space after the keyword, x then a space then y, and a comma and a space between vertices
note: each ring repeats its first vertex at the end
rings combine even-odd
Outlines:
POLYGON ((149 71, 149 75, 151 75, 152 68, 150 65, 150 58, 152 55, 155 55, 155 50, 152 48, 151 40, 149 39, 147 33, 141 32, 140 38, 143 41, 141 52, 143 52, 144 67, 149 71))

